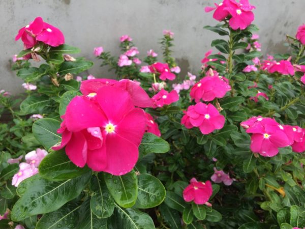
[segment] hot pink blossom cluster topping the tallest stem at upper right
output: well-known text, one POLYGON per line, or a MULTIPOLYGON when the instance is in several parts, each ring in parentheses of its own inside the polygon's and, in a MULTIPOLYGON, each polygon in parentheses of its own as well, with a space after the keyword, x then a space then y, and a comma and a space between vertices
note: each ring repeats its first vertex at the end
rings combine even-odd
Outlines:
POLYGON ((252 10, 255 9, 254 6, 249 4, 249 0, 240 0, 236 2, 235 0, 224 0, 222 3, 215 4, 215 7, 206 7, 205 12, 210 12, 215 10, 213 17, 222 21, 228 16, 229 25, 233 30, 245 30, 252 21, 254 20, 254 14, 252 10))

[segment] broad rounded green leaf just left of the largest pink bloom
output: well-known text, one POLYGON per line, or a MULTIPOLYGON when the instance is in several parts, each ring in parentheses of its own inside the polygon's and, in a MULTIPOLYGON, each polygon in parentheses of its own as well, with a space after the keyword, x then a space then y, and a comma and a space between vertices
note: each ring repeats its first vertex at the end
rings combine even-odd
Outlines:
POLYGON ((59 127, 60 122, 55 119, 39 119, 33 124, 32 131, 40 144, 50 150, 62 141, 62 137, 57 134, 59 127))

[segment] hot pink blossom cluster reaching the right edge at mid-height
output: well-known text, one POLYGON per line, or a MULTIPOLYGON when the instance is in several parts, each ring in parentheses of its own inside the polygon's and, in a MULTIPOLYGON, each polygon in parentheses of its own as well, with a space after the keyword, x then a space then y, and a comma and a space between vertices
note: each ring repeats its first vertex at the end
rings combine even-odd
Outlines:
POLYGON ((279 148, 291 146, 297 153, 305 151, 305 129, 281 125, 271 118, 252 117, 240 125, 251 135, 250 148, 264 157, 273 157, 279 148))

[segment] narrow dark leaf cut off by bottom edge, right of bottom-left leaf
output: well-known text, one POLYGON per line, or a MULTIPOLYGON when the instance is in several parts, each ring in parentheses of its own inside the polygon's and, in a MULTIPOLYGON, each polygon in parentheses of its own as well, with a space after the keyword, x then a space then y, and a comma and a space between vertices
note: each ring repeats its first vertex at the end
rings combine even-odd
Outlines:
POLYGON ((93 214, 90 208, 90 200, 87 199, 80 207, 79 210, 79 229, 108 229, 108 218, 99 219, 93 214))

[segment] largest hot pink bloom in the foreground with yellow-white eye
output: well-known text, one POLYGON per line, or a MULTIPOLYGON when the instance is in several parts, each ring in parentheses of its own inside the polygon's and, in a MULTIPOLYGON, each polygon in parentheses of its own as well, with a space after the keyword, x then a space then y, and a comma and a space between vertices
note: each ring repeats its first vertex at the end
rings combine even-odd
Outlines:
POLYGON ((104 85, 94 97, 76 96, 67 106, 59 150, 79 167, 124 175, 135 166, 146 128, 145 113, 124 89, 104 85))

